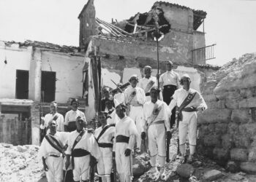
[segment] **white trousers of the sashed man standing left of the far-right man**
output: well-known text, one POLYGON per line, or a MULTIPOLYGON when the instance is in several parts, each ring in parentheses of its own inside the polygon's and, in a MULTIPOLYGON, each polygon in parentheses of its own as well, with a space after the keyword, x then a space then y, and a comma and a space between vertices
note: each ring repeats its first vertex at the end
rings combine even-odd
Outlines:
POLYGON ((148 150, 150 156, 166 156, 165 124, 151 124, 148 127, 148 150))

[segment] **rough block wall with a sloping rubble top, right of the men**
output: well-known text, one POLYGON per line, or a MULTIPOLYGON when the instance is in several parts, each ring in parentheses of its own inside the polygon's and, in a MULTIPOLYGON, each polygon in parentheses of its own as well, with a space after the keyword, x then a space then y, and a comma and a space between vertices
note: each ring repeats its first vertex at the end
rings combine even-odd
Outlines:
MULTIPOLYGON (((198 116, 198 151, 241 170, 256 166, 256 55, 227 63, 203 87, 208 110, 198 116)), ((256 167, 255 167, 256 169, 256 167)))

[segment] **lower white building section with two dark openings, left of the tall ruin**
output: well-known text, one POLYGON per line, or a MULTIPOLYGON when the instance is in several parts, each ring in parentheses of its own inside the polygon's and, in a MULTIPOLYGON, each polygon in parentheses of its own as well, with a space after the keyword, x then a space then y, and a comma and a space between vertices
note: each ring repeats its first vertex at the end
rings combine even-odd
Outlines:
POLYGON ((83 96, 84 55, 39 41, 0 41, 0 52, 0 142, 39 144, 40 116, 49 103, 56 100, 65 114, 69 98, 83 96))

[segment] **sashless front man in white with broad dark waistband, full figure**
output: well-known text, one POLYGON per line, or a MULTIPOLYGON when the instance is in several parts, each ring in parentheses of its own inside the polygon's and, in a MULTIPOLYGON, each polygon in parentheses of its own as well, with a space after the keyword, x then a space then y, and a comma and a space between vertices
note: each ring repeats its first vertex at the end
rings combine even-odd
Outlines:
POLYGON ((138 136, 135 122, 126 116, 124 104, 116 106, 116 114, 121 119, 116 124, 113 157, 116 156, 116 169, 121 182, 132 181, 132 149, 138 136))

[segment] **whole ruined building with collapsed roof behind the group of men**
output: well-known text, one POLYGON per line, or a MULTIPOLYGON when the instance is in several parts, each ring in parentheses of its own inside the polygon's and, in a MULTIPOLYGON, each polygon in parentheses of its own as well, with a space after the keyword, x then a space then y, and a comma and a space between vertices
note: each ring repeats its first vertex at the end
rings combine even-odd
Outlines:
POLYGON ((206 77, 219 69, 206 64, 214 59, 215 44, 206 46, 204 28, 198 31, 206 12, 162 1, 148 10, 107 23, 96 17, 89 0, 78 15, 79 47, 0 41, 0 142, 39 144, 40 116, 53 100, 64 115, 69 98, 79 98, 79 109, 91 121, 102 87, 114 89, 113 82, 125 84, 132 74, 141 78, 146 65, 156 75, 157 60, 160 74, 165 60, 173 60, 175 71, 189 74, 200 91, 206 77))

